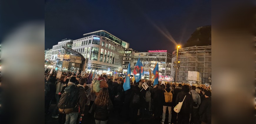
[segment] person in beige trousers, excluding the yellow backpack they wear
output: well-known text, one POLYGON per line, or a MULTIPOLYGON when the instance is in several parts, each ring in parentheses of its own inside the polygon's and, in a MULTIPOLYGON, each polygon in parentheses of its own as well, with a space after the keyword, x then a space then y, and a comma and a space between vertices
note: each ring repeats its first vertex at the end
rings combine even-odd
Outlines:
POLYGON ((173 101, 172 102, 165 102, 165 92, 171 92, 173 94, 173 91, 170 89, 170 84, 166 84, 166 88, 163 91, 162 99, 163 99, 163 115, 162 115, 162 121, 161 123, 164 124, 165 122, 165 115, 166 115, 166 110, 168 108, 168 124, 171 124, 171 119, 172 119, 172 106, 173 106, 173 101))

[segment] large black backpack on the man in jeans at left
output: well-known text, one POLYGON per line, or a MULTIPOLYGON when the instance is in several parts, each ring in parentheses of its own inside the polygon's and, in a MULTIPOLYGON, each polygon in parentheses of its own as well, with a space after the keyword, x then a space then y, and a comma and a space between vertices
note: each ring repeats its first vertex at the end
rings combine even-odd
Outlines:
POLYGON ((68 85, 58 103, 59 112, 68 114, 74 111, 78 103, 78 87, 76 85, 68 85))

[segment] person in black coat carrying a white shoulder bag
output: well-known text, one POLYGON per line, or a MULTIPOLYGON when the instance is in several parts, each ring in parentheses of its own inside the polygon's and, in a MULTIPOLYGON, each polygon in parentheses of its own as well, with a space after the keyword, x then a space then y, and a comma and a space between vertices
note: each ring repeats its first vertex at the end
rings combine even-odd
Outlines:
POLYGON ((183 85, 182 91, 179 92, 176 97, 175 105, 177 105, 179 102, 182 102, 184 97, 186 96, 182 104, 182 107, 180 109, 180 112, 178 113, 178 119, 177 119, 178 124, 188 124, 190 114, 193 111, 193 98, 188 92, 189 92, 189 86, 183 85))

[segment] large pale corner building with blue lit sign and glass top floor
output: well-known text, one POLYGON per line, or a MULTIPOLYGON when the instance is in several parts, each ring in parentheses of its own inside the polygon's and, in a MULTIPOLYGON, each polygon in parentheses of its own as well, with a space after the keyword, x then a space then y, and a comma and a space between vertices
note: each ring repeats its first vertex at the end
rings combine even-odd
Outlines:
POLYGON ((100 30, 83 34, 73 41, 72 49, 85 57, 85 69, 96 69, 97 74, 113 74, 122 69, 123 54, 129 43, 107 31, 100 30))

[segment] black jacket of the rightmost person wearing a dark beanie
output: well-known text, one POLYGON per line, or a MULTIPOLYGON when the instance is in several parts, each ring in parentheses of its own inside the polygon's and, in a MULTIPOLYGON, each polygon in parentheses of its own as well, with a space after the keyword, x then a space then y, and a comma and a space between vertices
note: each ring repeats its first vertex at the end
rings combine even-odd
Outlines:
POLYGON ((199 115, 201 120, 205 123, 211 124, 212 121, 212 97, 207 97, 202 102, 199 108, 199 115))

